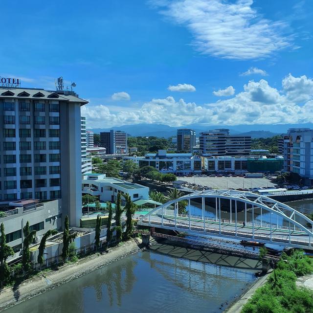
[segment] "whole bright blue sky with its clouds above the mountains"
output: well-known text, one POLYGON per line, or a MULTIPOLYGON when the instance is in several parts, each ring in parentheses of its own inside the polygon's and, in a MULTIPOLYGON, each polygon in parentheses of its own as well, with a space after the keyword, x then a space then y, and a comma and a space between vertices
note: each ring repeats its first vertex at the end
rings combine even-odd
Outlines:
POLYGON ((313 120, 311 0, 20 2, 1 4, 0 76, 76 82, 92 128, 313 120))

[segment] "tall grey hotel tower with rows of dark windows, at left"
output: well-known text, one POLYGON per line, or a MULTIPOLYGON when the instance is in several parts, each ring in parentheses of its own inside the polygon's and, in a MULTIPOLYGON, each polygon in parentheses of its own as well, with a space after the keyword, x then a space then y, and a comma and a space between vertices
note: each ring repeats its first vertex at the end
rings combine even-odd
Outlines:
POLYGON ((62 199, 72 226, 81 216, 81 116, 71 91, 0 87, 0 204, 62 199))

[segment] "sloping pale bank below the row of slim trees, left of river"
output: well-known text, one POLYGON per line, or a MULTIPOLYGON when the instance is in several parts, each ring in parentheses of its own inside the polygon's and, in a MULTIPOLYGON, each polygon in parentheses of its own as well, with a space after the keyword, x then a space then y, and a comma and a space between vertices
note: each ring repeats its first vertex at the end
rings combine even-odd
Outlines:
MULTIPOLYGON (((141 239, 136 239, 141 243, 141 239)), ((71 280, 88 274, 98 268, 107 266, 141 250, 134 240, 112 247, 108 252, 96 253, 75 263, 68 263, 56 270, 23 281, 18 286, 4 288, 0 291, 0 312, 18 303, 28 300, 45 291, 54 289, 71 280)))

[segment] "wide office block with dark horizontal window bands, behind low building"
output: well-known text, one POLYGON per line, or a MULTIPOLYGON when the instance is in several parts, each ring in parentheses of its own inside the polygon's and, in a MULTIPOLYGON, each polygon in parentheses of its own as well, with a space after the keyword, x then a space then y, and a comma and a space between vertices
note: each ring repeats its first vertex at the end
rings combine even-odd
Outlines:
POLYGON ((205 156, 248 156, 251 136, 231 135, 229 129, 200 133, 200 152, 205 156))

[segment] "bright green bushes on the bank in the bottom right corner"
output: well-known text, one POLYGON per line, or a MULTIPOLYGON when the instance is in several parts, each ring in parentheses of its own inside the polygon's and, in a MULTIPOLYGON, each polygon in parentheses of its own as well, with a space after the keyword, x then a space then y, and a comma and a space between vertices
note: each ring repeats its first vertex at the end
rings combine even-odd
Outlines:
POLYGON ((296 286, 298 276, 310 273, 313 273, 313 261, 303 251, 296 250, 291 256, 283 254, 275 273, 256 290, 242 313, 313 312, 313 291, 296 286))

